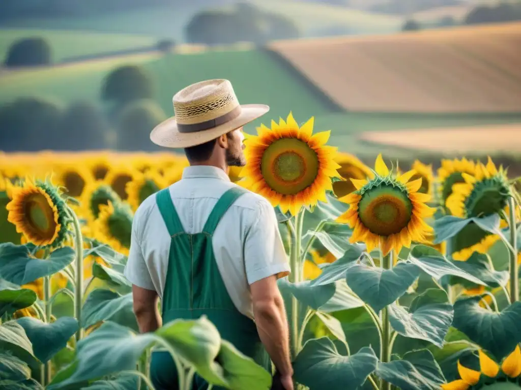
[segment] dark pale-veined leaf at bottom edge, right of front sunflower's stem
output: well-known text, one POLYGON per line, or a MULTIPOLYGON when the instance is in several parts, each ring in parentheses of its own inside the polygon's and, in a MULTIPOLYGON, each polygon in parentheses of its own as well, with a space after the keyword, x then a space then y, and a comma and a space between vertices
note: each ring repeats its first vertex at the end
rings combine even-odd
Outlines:
POLYGON ((376 374, 401 390, 438 390, 445 382, 440 366, 427 349, 409 352, 402 360, 378 362, 376 374))

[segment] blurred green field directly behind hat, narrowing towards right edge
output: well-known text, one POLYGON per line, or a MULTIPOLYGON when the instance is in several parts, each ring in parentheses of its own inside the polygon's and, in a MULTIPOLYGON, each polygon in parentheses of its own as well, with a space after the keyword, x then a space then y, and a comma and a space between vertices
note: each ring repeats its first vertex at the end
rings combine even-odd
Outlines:
MULTIPOLYGON (((264 103, 270 112, 246 126, 255 132, 260 123, 285 118, 293 112, 297 122, 315 116, 317 131, 331 130, 332 145, 358 155, 374 155, 381 147, 357 141, 367 131, 433 128, 520 122, 521 114, 399 114, 339 112, 294 69, 284 67, 265 51, 214 50, 199 54, 144 54, 66 64, 41 70, 8 72, 0 78, 0 103, 22 96, 44 96, 64 105, 76 100, 99 104, 104 77, 117 66, 140 63, 153 76, 155 99, 167 115, 173 114, 171 99, 182 87, 214 78, 231 80, 241 103, 264 103)), ((443 140, 440 140, 442 142, 443 140)), ((403 151, 389 148, 389 152, 403 151)))

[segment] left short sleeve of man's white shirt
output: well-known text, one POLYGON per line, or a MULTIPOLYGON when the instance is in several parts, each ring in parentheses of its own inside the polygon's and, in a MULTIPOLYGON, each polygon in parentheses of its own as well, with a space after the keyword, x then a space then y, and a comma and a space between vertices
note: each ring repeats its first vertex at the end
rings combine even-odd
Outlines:
POLYGON ((127 278, 129 282, 137 285, 143 289, 147 290, 155 290, 154 283, 150 276, 150 272, 148 271, 148 267, 146 266, 145 257, 143 255, 143 251, 141 249, 140 244, 140 234, 139 234, 139 224, 140 224, 140 213, 135 213, 134 219, 132 221, 132 232, 130 236, 130 250, 129 256, 127 260, 127 264, 125 266, 125 270, 123 270, 123 275, 127 278))

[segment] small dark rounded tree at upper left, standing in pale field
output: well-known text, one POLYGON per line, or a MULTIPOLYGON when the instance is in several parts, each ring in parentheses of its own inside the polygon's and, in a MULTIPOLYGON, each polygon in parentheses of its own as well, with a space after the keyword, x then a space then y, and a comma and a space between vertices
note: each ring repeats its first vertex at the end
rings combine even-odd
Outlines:
POLYGON ((23 38, 9 47, 5 66, 28 67, 51 63, 51 46, 41 37, 23 38))

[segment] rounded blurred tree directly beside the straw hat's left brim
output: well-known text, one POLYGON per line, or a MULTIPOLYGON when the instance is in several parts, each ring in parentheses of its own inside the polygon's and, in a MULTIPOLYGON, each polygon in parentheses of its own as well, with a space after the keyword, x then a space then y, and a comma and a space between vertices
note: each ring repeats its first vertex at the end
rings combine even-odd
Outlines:
POLYGON ((166 115, 150 99, 137 100, 123 108, 118 121, 119 150, 158 150, 150 140, 152 129, 164 121, 166 115))

